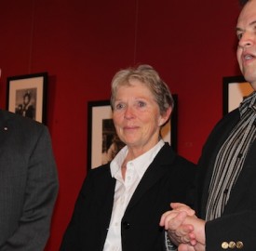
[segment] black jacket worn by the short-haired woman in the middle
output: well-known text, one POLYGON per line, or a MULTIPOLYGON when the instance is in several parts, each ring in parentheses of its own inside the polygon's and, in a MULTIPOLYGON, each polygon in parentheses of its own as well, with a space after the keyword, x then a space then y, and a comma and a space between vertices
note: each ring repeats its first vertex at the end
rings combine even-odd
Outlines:
MULTIPOLYGON (((164 250, 161 215, 170 202, 184 202, 194 179, 195 165, 166 144, 155 156, 134 192, 121 223, 122 250, 164 250)), ((103 248, 110 223, 115 178, 110 165, 92 169, 74 208, 73 218, 63 236, 61 250, 103 248)))

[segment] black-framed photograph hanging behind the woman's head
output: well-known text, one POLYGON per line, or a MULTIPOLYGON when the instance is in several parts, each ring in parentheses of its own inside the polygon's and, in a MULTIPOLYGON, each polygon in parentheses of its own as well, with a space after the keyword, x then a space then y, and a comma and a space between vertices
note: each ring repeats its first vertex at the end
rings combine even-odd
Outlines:
MULTIPOLYGON (((174 112, 172 112, 171 120, 162 128, 161 134, 176 151, 177 95, 173 95, 173 99, 175 101, 174 112)), ((125 144, 115 133, 110 101, 88 101, 88 169, 110 162, 124 146, 125 144)))

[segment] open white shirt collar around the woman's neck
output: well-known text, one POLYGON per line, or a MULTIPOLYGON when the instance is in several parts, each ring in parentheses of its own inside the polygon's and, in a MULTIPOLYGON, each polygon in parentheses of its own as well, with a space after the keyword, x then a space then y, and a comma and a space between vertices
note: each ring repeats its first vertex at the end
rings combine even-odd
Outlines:
MULTIPOLYGON (((148 166, 155 159, 155 155, 160 151, 160 149, 164 146, 165 142, 163 139, 160 139, 158 143, 150 149, 148 152, 141 154, 141 156, 136 159, 129 161, 128 163, 132 163, 135 166, 135 170, 141 178, 145 173, 148 166)), ((110 163, 111 176, 114 178, 115 174, 120 171, 120 168, 128 154, 128 147, 125 146, 122 148, 115 156, 113 161, 110 163)))

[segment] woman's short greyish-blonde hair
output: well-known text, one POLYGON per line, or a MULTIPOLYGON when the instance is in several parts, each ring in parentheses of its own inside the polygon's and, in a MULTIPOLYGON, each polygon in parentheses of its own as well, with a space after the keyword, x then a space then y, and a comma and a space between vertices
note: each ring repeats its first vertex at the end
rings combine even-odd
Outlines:
POLYGON ((119 86, 129 86, 130 80, 139 80, 147 86, 155 97, 161 115, 168 108, 174 107, 174 100, 170 94, 167 84, 160 78, 159 74, 150 65, 140 65, 137 68, 128 68, 115 73, 111 84, 111 107, 114 109, 116 92, 119 86))

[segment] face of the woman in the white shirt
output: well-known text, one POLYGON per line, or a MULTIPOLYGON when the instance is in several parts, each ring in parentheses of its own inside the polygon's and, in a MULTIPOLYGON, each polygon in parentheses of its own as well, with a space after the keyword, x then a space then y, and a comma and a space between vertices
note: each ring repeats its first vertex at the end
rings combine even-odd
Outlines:
POLYGON ((162 117, 153 94, 138 80, 131 86, 117 89, 113 118, 118 137, 129 148, 142 152, 158 142, 160 126, 168 119, 162 117))

